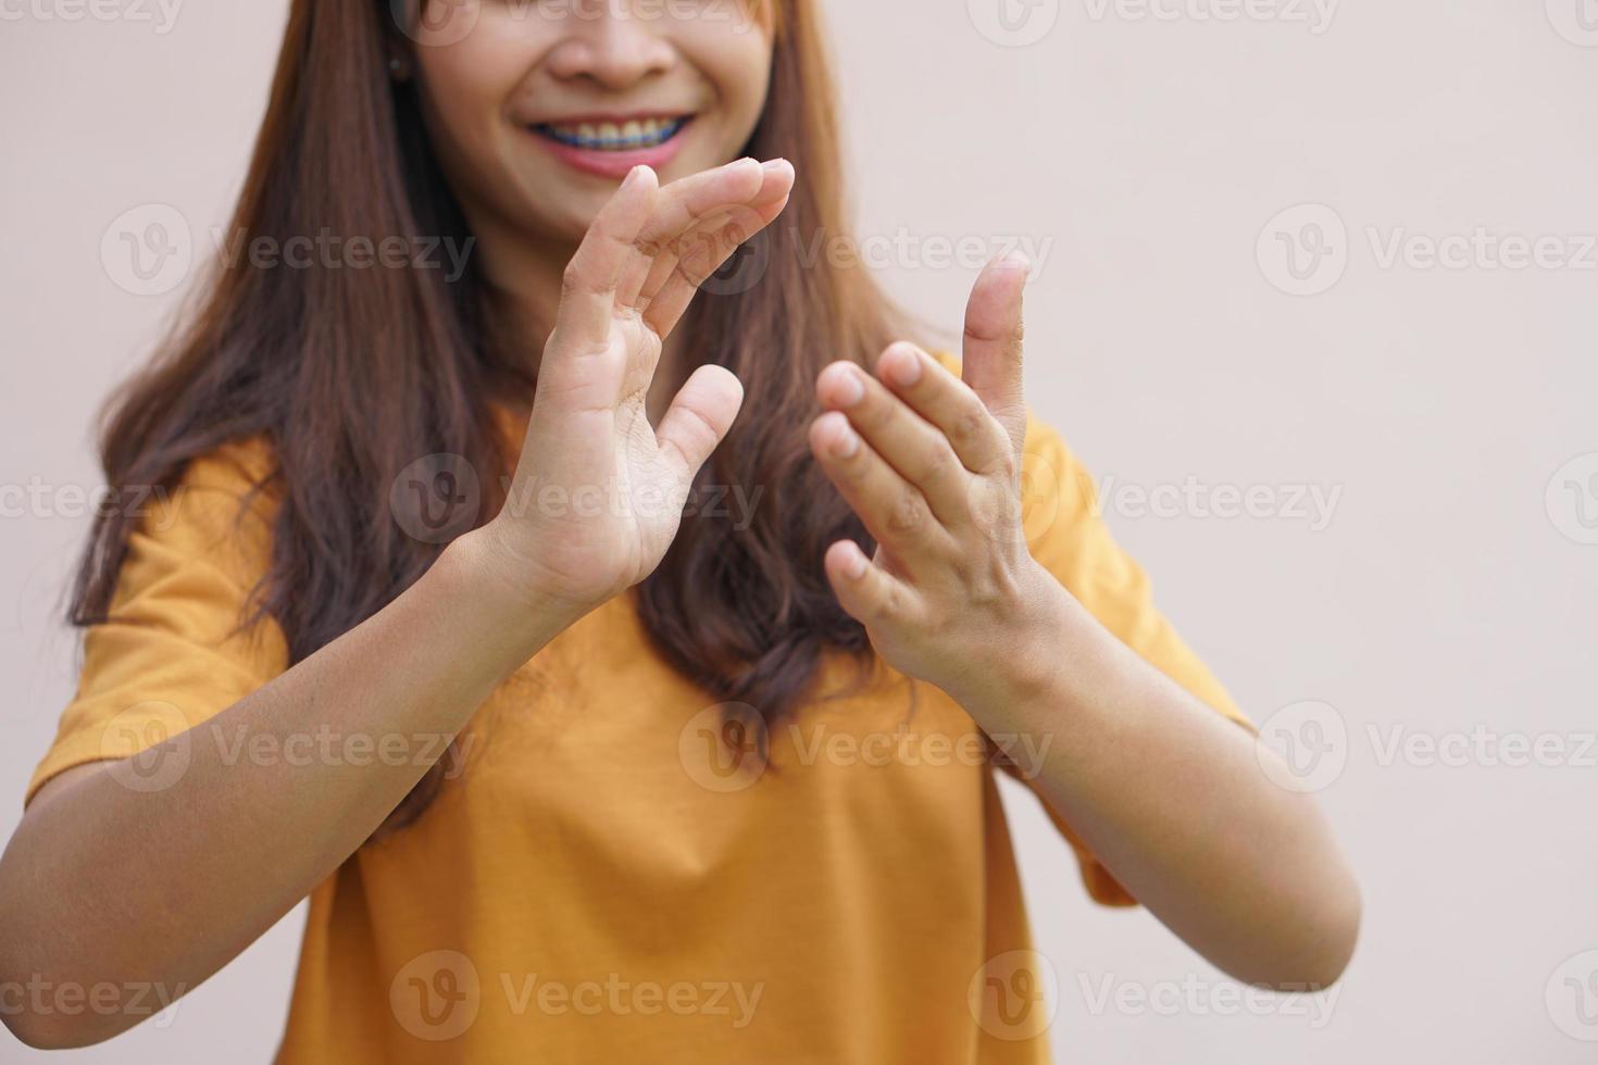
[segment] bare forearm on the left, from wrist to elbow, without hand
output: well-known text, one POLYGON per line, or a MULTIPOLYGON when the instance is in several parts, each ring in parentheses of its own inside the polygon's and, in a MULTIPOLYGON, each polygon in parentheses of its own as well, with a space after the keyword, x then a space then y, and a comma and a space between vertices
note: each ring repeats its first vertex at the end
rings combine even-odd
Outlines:
MULTIPOLYGON (((101 765, 35 800, 0 859, 0 979, 158 982, 176 995, 337 869, 564 623, 505 624, 475 546, 457 541, 376 616, 168 741, 189 750, 169 787, 134 790, 101 765), (406 757, 251 754, 318 731, 364 750, 400 736, 406 757)), ((85 1043, 139 1017, 56 1020, 74 1030, 48 1039, 85 1043)))

